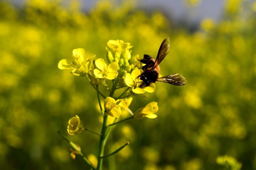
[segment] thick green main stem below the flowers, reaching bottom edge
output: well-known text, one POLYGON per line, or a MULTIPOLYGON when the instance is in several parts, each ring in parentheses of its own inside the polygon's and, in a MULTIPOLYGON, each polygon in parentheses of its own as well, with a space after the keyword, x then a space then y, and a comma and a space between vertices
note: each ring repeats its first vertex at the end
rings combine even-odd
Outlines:
POLYGON ((102 162, 103 162, 102 156, 104 155, 104 148, 107 141, 107 138, 106 138, 107 121, 108 121, 108 115, 105 115, 103 117, 103 124, 101 129, 100 146, 99 146, 100 149, 99 149, 99 155, 98 155, 97 170, 102 169, 102 162))

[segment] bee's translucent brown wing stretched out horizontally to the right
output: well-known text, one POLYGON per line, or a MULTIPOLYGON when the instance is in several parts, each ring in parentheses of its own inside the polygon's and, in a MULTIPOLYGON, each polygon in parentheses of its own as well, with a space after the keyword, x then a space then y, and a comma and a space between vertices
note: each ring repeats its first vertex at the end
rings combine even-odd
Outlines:
POLYGON ((171 74, 169 76, 160 77, 156 81, 165 82, 172 85, 185 85, 187 83, 186 79, 178 73, 171 74))

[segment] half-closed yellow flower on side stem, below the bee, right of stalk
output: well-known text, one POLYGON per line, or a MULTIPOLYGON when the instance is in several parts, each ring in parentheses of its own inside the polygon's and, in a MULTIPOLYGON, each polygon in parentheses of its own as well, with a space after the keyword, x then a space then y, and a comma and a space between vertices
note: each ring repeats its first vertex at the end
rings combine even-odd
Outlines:
POLYGON ((154 119, 157 117, 157 115, 153 114, 158 111, 157 102, 150 102, 145 107, 139 108, 135 114, 134 118, 140 119, 140 118, 151 118, 154 119))

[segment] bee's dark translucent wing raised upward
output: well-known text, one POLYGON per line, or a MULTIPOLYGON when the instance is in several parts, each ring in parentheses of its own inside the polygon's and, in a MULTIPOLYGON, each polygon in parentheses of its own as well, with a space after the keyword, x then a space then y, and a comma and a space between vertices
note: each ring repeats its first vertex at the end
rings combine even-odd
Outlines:
POLYGON ((154 70, 161 63, 161 61, 169 53, 169 50, 170 50, 170 40, 169 40, 169 38, 166 38, 166 39, 164 39, 164 41, 162 42, 162 44, 158 50, 155 64, 151 70, 154 70))

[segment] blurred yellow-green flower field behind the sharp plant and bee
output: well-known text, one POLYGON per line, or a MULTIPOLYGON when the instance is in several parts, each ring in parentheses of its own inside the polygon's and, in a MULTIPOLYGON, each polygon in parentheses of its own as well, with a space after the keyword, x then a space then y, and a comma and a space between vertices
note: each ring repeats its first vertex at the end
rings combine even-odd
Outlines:
POLYGON ((156 83, 148 98, 133 99, 133 111, 157 101, 158 117, 117 125, 106 153, 130 145, 106 159, 105 169, 224 169, 216 162, 223 155, 256 169, 255 1, 221 1, 213 19, 198 13, 204 0, 182 1, 180 17, 161 10, 163 4, 142 8, 144 1, 100 0, 85 10, 86 3, 0 1, 0 169, 89 169, 81 157, 71 159, 57 131, 84 155, 97 155, 97 135, 66 130, 77 114, 100 131, 96 92, 58 62, 71 60, 75 48, 105 58, 111 39, 130 42, 133 55, 155 57, 166 37, 171 49, 161 74, 180 73, 187 85, 156 83))

